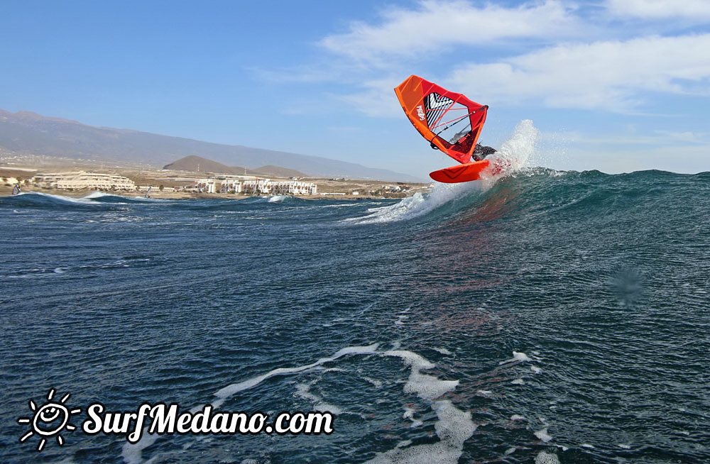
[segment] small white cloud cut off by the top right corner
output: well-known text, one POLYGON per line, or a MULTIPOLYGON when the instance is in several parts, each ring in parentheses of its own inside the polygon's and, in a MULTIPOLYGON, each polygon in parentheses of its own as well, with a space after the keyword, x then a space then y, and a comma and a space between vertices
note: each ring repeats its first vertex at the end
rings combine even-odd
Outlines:
POLYGON ((645 19, 710 18, 708 0, 607 0, 606 8, 618 16, 645 19))

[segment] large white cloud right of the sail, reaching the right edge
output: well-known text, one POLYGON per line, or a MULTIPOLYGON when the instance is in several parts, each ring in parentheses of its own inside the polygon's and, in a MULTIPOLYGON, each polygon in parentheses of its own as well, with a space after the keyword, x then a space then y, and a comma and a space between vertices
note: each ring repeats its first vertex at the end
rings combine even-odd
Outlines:
POLYGON ((630 111, 641 91, 710 96, 707 50, 710 34, 559 45, 460 67, 447 83, 488 104, 630 111))

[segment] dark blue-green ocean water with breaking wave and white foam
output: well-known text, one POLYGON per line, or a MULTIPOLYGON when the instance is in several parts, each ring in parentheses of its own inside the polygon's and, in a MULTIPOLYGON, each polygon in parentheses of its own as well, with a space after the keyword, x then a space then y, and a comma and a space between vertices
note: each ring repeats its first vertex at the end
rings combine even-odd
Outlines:
MULTIPOLYGON (((0 198, 0 460, 710 461, 710 173, 525 167, 403 200, 0 198), (329 435, 29 429, 48 391, 329 435)), ((82 413, 83 414, 83 413, 82 413)))

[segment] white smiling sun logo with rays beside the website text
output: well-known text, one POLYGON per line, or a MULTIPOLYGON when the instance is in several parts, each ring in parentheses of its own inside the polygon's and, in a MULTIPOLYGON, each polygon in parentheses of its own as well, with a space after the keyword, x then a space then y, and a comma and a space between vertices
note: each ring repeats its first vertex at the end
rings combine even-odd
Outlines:
POLYGON ((59 446, 64 445, 64 438, 60 435, 63 429, 69 431, 76 430, 75 426, 69 423, 72 414, 79 414, 81 409, 72 409, 71 411, 64 405, 69 399, 70 393, 65 394, 59 402, 53 401, 55 390, 51 388, 47 393, 47 402, 40 407, 30 400, 30 409, 34 412, 32 417, 20 417, 17 419, 18 424, 31 424, 30 431, 25 433, 20 438, 20 443, 37 433, 40 438, 40 443, 37 445, 37 451, 42 451, 47 443, 47 438, 57 437, 59 446))

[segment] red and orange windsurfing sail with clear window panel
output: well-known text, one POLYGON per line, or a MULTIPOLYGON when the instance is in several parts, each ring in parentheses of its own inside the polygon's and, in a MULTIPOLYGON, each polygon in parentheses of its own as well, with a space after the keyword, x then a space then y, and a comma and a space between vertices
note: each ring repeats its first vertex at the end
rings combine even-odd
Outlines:
POLYGON ((471 160, 486 122, 487 105, 414 75, 395 87, 395 93, 411 123, 432 148, 461 163, 471 160))

